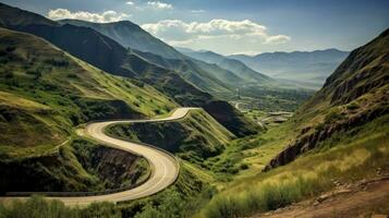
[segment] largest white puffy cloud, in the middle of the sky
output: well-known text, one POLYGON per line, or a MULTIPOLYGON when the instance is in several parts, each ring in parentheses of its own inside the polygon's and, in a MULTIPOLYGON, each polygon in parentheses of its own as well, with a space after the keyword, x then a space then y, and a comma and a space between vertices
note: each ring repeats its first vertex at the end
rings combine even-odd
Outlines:
POLYGON ((218 19, 204 23, 163 20, 157 23, 144 24, 142 27, 173 46, 215 39, 229 43, 244 41, 275 45, 284 44, 291 39, 285 35, 269 35, 266 26, 250 20, 229 21, 218 19))

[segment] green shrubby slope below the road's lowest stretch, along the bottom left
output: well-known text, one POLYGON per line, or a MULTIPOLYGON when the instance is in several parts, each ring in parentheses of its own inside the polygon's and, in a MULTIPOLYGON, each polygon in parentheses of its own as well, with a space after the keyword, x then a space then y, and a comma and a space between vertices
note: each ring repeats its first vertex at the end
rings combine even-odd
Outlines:
POLYGON ((138 201, 96 203, 87 207, 66 207, 59 201, 33 196, 26 202, 0 204, 0 218, 5 217, 190 217, 212 195, 214 190, 182 166, 178 181, 167 190, 138 201))

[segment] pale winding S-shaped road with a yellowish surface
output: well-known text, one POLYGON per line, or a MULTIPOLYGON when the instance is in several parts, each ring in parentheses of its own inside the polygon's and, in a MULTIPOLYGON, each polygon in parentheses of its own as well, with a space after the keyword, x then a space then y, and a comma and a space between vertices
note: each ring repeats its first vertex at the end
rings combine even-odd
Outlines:
MULTIPOLYGON (((127 199, 136 199, 155 194, 170 184, 172 184, 179 175, 179 162, 177 159, 162 149, 151 146, 142 145, 138 143, 126 142, 110 137, 104 133, 105 128, 118 123, 136 123, 136 122, 162 122, 172 121, 184 118, 190 110, 197 108, 178 108, 171 116, 160 119, 150 120, 118 120, 93 122, 86 125, 85 134, 93 137, 107 146, 126 150, 132 154, 143 156, 148 160, 151 167, 149 179, 134 189, 96 196, 71 196, 71 197, 47 197, 50 199, 60 199, 65 205, 88 205, 93 202, 112 202, 118 203, 127 199)), ((1 201, 25 198, 25 197, 0 197, 1 201)))

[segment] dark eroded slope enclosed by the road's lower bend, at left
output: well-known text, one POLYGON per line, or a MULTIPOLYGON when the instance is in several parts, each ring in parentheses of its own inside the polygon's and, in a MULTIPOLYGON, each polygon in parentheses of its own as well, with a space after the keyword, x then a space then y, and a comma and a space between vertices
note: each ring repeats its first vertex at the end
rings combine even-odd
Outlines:
POLYGON ((72 148, 36 157, 13 160, 2 156, 0 171, 0 195, 127 187, 148 173, 147 164, 141 157, 86 141, 75 141, 72 148))

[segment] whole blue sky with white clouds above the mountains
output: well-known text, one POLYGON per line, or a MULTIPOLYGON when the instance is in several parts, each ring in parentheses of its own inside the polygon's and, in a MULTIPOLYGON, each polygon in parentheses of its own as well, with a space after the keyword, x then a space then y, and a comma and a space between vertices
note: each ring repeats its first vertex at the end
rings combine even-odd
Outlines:
POLYGON ((355 49, 389 27, 388 0, 0 0, 52 20, 129 20, 174 47, 222 55, 355 49))

